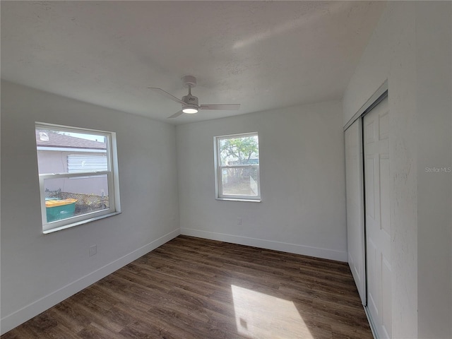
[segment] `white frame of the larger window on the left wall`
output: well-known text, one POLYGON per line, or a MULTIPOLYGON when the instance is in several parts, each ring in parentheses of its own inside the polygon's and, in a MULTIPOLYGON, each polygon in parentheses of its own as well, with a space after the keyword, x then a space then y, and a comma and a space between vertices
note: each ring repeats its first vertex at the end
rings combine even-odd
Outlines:
MULTIPOLYGON (((106 153, 107 153, 107 170, 105 171, 93 171, 93 172, 68 172, 67 173, 43 173, 39 176, 40 185, 40 205, 41 205, 41 218, 42 218, 42 232, 48 234, 59 230, 65 230, 77 225, 83 225, 87 222, 107 218, 112 215, 121 213, 121 206, 119 201, 119 176, 117 165, 117 143, 116 133, 109 131, 99 131, 96 129, 83 129, 71 126, 62 126, 57 124, 47 124, 42 122, 35 122, 36 129, 47 129, 50 131, 63 131, 69 133, 91 133, 105 137, 106 153), (45 206, 45 187, 44 181, 46 179, 76 179, 86 177, 99 177, 107 176, 108 198, 109 207, 104 210, 97 210, 82 215, 76 215, 70 218, 56 220, 53 222, 47 222, 47 210, 45 206)), ((38 146, 37 146, 38 150, 38 146)), ((36 153, 37 156, 37 153, 36 153)))

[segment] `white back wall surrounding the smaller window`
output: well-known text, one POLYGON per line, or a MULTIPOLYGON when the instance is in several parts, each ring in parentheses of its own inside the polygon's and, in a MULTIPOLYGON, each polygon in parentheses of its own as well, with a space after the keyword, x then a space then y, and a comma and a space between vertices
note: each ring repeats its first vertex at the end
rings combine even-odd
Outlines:
POLYGON ((323 102, 177 126, 182 234, 347 261, 341 110, 323 102), (213 137, 244 132, 259 135, 262 202, 215 200, 213 137))

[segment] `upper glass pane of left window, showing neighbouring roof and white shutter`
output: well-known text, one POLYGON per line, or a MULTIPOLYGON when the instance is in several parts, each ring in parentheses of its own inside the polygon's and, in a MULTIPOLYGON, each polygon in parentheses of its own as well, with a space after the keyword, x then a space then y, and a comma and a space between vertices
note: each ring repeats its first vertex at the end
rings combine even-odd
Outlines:
POLYGON ((95 133, 36 128, 40 174, 105 171, 107 140, 95 133))

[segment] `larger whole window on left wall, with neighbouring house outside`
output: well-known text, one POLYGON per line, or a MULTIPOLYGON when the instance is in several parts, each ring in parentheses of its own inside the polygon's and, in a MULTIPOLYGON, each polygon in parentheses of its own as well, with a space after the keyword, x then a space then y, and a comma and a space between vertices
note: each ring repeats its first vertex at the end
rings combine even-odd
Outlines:
POLYGON ((119 213, 115 133, 36 124, 42 231, 119 213))

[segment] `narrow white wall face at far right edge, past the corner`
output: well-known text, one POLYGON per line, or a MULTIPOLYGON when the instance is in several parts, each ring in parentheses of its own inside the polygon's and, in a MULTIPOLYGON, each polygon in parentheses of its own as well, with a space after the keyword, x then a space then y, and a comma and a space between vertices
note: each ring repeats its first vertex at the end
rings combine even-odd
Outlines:
POLYGON ((417 294, 420 338, 452 338, 452 2, 416 6, 417 294))

